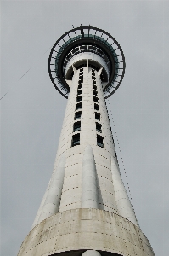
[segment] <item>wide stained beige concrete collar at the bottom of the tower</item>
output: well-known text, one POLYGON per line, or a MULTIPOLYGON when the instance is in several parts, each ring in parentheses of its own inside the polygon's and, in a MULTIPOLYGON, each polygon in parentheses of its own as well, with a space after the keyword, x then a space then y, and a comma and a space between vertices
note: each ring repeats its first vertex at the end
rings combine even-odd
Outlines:
POLYGON ((25 237, 18 256, 80 256, 96 250, 102 256, 155 253, 143 232, 126 218, 99 209, 72 209, 37 224, 25 237))

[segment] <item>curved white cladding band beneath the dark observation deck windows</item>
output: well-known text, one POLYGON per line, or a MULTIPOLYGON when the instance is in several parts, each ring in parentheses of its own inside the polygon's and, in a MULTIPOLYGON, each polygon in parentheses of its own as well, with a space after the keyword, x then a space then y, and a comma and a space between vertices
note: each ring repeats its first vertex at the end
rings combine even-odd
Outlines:
POLYGON ((66 73, 68 72, 70 67, 72 67, 72 65, 76 64, 76 62, 82 61, 82 60, 95 61, 96 63, 99 64, 100 67, 104 67, 104 69, 107 73, 107 77, 109 78, 109 69, 108 69, 107 64, 105 63, 104 59, 102 57, 100 57, 99 55, 96 55, 92 52, 82 52, 80 54, 73 56, 70 59, 70 61, 68 61, 67 65, 65 67, 65 77, 66 77, 66 73))

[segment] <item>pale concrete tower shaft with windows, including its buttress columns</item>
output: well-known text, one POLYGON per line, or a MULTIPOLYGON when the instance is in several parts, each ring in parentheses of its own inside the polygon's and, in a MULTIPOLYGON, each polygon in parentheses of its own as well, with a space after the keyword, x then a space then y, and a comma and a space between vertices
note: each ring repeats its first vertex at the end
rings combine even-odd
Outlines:
POLYGON ((74 68, 53 176, 33 226, 54 213, 84 206, 117 214, 119 208, 121 216, 137 224, 121 181, 99 72, 91 67, 74 68), (93 166, 92 159, 85 160, 87 154, 93 155, 93 166), (88 202, 82 202, 87 196, 88 202))

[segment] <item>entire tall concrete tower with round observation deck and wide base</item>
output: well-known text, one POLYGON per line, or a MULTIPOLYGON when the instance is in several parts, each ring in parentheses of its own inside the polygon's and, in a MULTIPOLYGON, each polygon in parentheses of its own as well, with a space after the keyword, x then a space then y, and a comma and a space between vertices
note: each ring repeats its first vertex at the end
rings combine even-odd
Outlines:
POLYGON ((54 172, 18 255, 155 255, 121 180, 105 104, 125 73, 121 46, 99 28, 74 28, 54 44, 48 72, 68 101, 54 172))

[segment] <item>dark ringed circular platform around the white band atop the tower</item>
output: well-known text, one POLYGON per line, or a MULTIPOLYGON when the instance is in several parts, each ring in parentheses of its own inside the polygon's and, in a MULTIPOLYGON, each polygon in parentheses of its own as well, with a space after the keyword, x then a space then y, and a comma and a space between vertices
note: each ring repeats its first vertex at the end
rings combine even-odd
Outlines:
MULTIPOLYGON (((65 67, 75 55, 92 52, 105 61, 109 78, 104 86, 104 97, 108 98, 121 84, 125 73, 125 57, 120 44, 108 32, 93 26, 73 28, 54 44, 48 59, 48 73, 56 90, 68 98, 69 85, 65 81, 65 67)), ((104 78, 104 73, 102 74, 104 78)))

